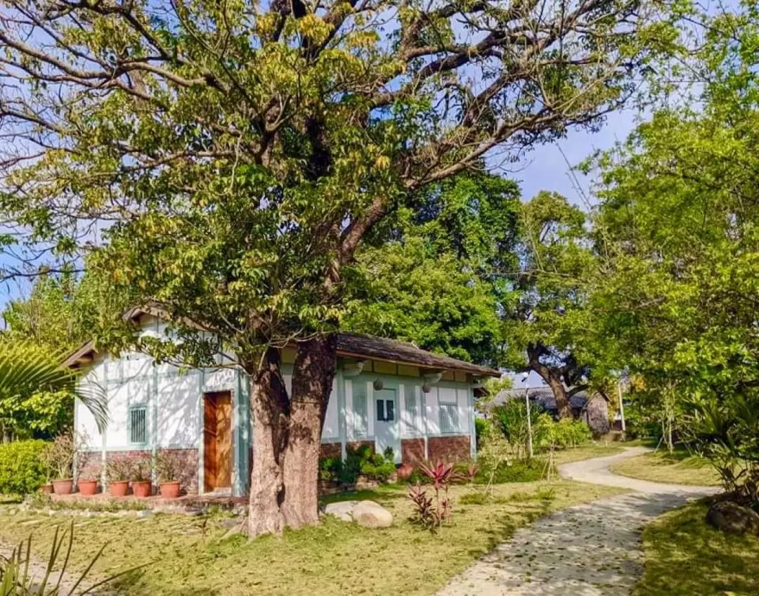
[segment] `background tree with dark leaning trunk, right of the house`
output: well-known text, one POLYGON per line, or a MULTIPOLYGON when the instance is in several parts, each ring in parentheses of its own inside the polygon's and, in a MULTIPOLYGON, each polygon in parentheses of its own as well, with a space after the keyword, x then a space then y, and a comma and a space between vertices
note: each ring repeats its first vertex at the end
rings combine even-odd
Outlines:
POLYGON ((503 311, 507 362, 539 374, 559 418, 572 418, 569 398, 587 389, 591 362, 587 292, 596 263, 586 214, 548 192, 525 203, 521 214, 518 299, 503 311))

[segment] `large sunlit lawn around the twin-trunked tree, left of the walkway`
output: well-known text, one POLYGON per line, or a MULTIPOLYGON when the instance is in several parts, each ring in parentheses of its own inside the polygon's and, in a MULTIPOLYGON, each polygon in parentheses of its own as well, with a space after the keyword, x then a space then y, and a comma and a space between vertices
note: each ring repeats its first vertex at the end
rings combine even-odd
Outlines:
MULTIPOLYGON (((151 563, 117 584, 124 594, 433 594, 519 526, 622 492, 572 481, 494 490, 494 500, 464 505, 458 500, 474 489, 454 487, 454 518, 435 535, 407 521, 405 487, 341 496, 371 498, 390 509, 395 522, 386 530, 327 517, 318 527, 282 538, 222 540, 222 516, 75 517, 72 563, 83 569, 106 541, 94 567, 98 576, 151 563)), ((69 522, 64 516, 9 515, 9 509, 0 508, 0 539, 20 541, 33 532, 33 550, 41 558, 55 525, 69 522)))

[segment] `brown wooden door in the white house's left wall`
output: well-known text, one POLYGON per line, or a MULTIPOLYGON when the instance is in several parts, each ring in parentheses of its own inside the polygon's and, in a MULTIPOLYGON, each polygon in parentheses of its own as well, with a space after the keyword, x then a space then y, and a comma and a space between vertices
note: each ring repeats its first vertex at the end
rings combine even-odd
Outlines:
POLYGON ((206 491, 231 487, 232 398, 231 393, 203 396, 203 484, 206 491))

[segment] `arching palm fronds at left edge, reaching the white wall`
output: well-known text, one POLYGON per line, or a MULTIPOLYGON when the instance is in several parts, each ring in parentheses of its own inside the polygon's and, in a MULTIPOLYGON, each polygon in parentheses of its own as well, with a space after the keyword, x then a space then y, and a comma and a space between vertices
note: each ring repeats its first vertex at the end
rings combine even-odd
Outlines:
POLYGON ((108 425, 108 399, 97 383, 79 383, 81 373, 65 367, 64 352, 30 342, 0 342, 0 403, 24 402, 39 392, 68 392, 92 412, 98 430, 108 425))

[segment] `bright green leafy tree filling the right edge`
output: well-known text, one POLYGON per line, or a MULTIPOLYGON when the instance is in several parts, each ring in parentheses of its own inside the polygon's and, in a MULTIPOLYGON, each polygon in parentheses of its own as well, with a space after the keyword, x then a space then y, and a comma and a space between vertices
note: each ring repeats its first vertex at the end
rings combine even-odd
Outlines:
POLYGON ((594 162, 604 259, 591 308, 609 357, 759 503, 759 10, 704 29, 699 109, 660 110, 594 162))

